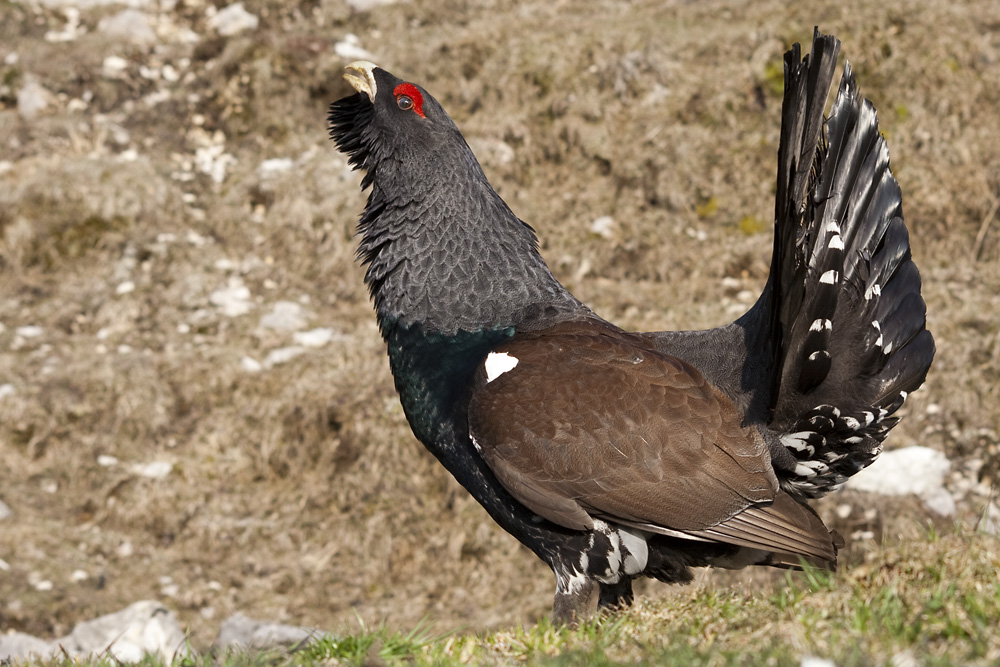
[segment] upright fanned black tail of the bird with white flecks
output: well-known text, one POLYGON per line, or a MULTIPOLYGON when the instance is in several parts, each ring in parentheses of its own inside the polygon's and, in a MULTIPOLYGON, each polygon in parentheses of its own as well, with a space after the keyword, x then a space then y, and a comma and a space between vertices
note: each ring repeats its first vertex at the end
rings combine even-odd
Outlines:
POLYGON ((850 65, 823 122, 838 50, 817 31, 810 56, 785 55, 768 427, 782 486, 800 497, 875 459, 934 357, 899 185, 850 65))

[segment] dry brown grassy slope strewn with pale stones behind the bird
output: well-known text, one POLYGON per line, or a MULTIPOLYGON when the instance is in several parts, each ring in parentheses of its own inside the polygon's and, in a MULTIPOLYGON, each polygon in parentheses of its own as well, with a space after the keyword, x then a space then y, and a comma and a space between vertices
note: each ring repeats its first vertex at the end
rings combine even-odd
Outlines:
MULTIPOLYGON (((353 261, 360 179, 325 131, 366 51, 452 113, 579 297, 625 327, 700 328, 766 277, 781 55, 814 25, 838 35, 880 110, 938 341, 888 445, 948 455, 958 519, 989 501, 992 0, 0 0, 0 16, 2 629, 55 636, 144 598, 196 645, 235 611, 440 629, 547 613, 551 574, 423 451, 392 388, 353 261)), ((851 494, 822 510, 855 537, 848 563, 930 516, 851 494)))

